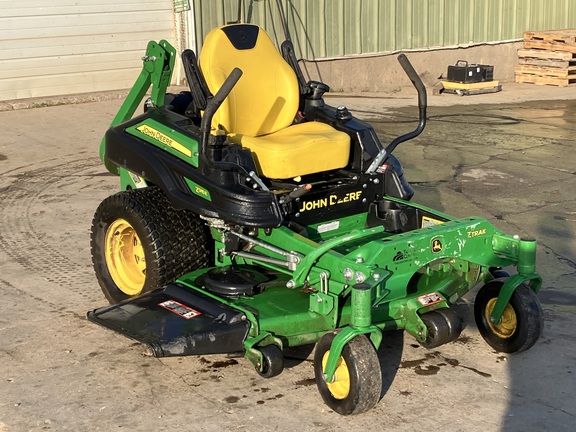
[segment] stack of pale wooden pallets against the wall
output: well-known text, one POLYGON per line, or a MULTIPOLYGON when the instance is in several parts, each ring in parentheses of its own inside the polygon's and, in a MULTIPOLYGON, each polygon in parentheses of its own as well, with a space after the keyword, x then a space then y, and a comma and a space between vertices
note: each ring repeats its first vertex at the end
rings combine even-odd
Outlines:
POLYGON ((576 85, 576 29, 525 32, 515 76, 519 83, 576 85))

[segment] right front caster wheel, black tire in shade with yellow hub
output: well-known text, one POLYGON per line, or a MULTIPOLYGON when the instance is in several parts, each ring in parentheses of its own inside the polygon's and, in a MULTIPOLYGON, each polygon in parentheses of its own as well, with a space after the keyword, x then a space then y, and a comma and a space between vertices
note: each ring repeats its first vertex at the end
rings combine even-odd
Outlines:
POLYGON ((491 322, 490 315, 505 281, 495 279, 478 291, 474 318, 480 334, 496 351, 521 352, 534 345, 542 333, 542 306, 534 291, 522 284, 512 294, 500 322, 491 322))

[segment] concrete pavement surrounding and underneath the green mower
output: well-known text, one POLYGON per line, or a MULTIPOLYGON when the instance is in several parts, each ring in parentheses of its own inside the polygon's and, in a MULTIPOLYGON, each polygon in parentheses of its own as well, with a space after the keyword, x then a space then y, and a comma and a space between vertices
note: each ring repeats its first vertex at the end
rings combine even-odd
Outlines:
MULTIPOLYGON (((369 118, 384 141, 413 127, 413 94, 353 96, 329 103, 369 118)), ((544 335, 527 352, 494 352, 475 328, 471 293, 456 342, 428 351, 385 334, 384 396, 356 417, 322 403, 312 347, 286 353, 286 370, 265 380, 244 358, 145 357, 87 322, 106 303, 89 231, 118 190, 97 153, 120 101, 0 112, 0 432, 573 431, 574 98, 575 88, 530 85, 430 97, 426 131, 395 153, 415 201, 538 239, 544 335)))

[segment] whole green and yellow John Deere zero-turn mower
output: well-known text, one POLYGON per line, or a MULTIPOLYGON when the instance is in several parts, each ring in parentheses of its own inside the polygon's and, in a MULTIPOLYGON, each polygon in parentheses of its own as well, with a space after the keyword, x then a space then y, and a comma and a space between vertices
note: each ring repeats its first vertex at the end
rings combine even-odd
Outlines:
POLYGON ((326 105, 329 87, 304 79, 290 41, 279 53, 255 25, 212 30, 198 61, 182 53, 189 92, 167 93, 175 58, 168 42, 148 44, 102 141, 121 192, 93 220, 111 305, 91 321, 157 357, 243 353, 266 378, 282 372, 283 350, 316 343, 320 395, 344 415, 379 400, 382 332, 453 341, 453 305, 479 284, 486 342, 507 353, 536 342, 535 240, 410 201, 392 152, 424 129, 426 90, 404 55, 419 123, 387 146, 326 105))

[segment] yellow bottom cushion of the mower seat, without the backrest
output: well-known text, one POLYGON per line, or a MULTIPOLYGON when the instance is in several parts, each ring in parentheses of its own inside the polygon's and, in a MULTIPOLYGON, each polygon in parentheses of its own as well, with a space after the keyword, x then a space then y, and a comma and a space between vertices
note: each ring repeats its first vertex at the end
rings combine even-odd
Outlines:
POLYGON ((232 135, 230 140, 256 155, 261 173, 286 179, 343 168, 350 157, 350 137, 330 125, 308 122, 272 134, 232 135))

